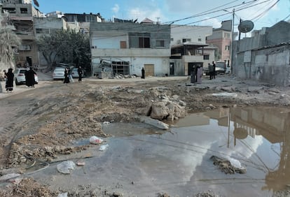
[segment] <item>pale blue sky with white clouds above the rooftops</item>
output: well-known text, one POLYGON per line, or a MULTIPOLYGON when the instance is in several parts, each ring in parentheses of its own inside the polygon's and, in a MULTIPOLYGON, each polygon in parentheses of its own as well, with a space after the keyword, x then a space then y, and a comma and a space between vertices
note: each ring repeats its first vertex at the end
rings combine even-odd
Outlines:
POLYGON ((149 18, 160 24, 188 24, 221 27, 233 20, 235 29, 242 20, 254 22, 254 29, 272 27, 290 20, 290 0, 37 0, 42 13, 100 13, 105 20, 114 17, 141 22, 149 18))

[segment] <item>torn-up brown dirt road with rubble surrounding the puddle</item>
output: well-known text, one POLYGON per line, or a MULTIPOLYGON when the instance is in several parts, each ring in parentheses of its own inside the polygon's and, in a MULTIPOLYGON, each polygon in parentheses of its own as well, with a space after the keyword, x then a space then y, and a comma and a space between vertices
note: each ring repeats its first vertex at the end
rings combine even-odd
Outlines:
MULTIPOLYGON (((113 150, 113 156, 120 157, 118 164, 126 166, 120 180, 111 174, 113 169, 83 168, 83 175, 90 177, 86 180, 78 174, 57 175, 55 166, 67 160, 87 166, 86 159, 104 156, 106 152, 99 152, 99 145, 81 140, 97 136, 104 142, 113 141, 116 135, 104 131, 106 123, 130 124, 130 136, 134 136, 140 134, 140 123, 174 124, 192 112, 244 106, 290 108, 289 87, 237 80, 228 75, 215 80, 205 78, 200 85, 191 84, 187 77, 88 78, 68 85, 41 81, 34 89, 20 88, 25 91, 0 96, 0 196, 170 196, 169 190, 137 184, 139 177, 134 176, 138 172, 125 165, 127 155, 118 148, 113 150), (157 119, 162 122, 154 122, 157 119), (54 168, 49 170, 51 166, 54 168), (16 177, 5 177, 13 174, 16 177)), ((170 129, 146 131, 166 133, 170 129)), ((110 145, 109 149, 113 147, 110 145)), ((111 166, 116 161, 103 162, 104 166, 111 166)), ((216 191, 188 192, 191 196, 217 196, 216 191)))

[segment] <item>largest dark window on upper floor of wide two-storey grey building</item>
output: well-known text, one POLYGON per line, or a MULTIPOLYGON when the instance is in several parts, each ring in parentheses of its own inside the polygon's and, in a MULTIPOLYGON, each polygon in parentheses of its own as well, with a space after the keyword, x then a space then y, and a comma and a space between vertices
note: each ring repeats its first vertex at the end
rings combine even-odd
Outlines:
POLYGON ((149 33, 130 33, 129 34, 130 48, 150 48, 149 33))

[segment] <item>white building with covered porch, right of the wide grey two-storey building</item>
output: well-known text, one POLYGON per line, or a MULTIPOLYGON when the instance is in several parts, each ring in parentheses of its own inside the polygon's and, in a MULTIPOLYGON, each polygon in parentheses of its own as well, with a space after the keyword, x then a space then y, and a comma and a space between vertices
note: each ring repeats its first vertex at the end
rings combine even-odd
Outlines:
POLYGON ((209 35, 209 26, 172 25, 170 75, 191 75, 196 66, 214 61, 216 48, 207 48, 206 43, 209 35))

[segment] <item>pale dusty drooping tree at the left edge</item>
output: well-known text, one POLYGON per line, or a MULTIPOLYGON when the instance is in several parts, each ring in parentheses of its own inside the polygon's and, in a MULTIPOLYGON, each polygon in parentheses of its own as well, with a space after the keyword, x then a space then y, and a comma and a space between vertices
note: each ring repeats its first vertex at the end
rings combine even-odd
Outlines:
POLYGON ((20 38, 14 33, 14 27, 2 24, 0 17, 0 71, 14 68, 13 48, 20 45, 20 38))

